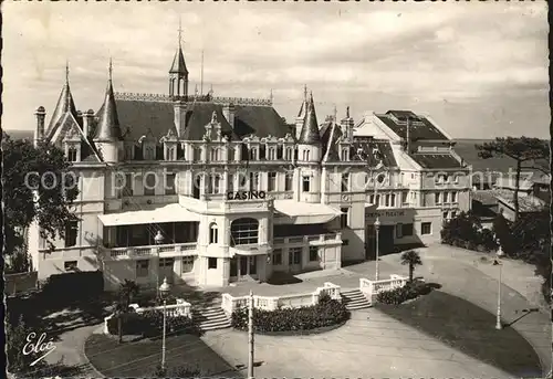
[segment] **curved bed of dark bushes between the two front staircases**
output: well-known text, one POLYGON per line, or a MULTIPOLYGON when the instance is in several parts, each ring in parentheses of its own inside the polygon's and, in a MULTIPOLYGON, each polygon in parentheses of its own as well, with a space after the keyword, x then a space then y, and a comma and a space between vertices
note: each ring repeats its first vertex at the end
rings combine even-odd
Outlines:
MULTIPOLYGON (((319 304, 301 308, 280 308, 275 310, 253 309, 253 327, 258 333, 312 330, 346 322, 349 312, 345 304, 327 295, 320 297, 319 304)), ((232 313, 232 326, 248 330, 248 308, 232 313)))

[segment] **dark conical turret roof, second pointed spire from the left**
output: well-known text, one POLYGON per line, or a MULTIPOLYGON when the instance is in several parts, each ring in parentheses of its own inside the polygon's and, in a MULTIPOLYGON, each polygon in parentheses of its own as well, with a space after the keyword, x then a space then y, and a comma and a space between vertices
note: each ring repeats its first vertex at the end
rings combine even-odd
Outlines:
POLYGON ((112 73, 113 64, 112 59, 109 59, 109 78, 107 80, 104 104, 98 112, 98 124, 96 127, 96 135, 94 136, 94 141, 98 143, 123 140, 119 127, 119 118, 117 116, 115 95, 113 93, 112 73))

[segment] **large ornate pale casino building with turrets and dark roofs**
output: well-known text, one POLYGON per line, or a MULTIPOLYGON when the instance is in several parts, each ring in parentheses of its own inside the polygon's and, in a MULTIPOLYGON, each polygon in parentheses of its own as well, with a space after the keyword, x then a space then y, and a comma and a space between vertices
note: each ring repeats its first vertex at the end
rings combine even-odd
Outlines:
POLYGON ((346 109, 319 123, 306 90, 299 107, 290 125, 271 99, 190 94, 180 45, 166 95, 114 93, 109 64, 104 103, 79 112, 66 77, 48 126, 36 109, 34 139, 73 162, 80 221, 53 251, 31 228, 39 278, 263 282, 374 260, 376 219, 380 254, 439 241, 444 219, 470 207, 470 167, 429 117, 355 123, 346 109))

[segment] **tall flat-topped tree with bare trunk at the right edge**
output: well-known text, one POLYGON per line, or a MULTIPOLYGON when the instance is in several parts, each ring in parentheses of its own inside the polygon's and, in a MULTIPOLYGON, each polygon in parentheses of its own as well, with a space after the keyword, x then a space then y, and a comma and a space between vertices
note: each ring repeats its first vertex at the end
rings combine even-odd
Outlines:
POLYGON ((550 173, 542 161, 549 161, 550 147, 547 141, 530 137, 498 137, 494 141, 476 145, 478 156, 483 159, 509 157, 515 161, 514 178, 514 218, 519 217, 520 178, 523 169, 539 170, 550 173))

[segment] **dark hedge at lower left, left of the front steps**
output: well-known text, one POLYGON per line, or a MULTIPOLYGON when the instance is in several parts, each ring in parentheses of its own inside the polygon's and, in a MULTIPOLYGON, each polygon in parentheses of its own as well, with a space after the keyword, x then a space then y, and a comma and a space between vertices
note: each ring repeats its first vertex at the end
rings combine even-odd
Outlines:
MULTIPOLYGON (((115 315, 107 320, 107 330, 114 336, 118 335, 117 317, 115 315)), ((121 317, 123 317, 123 335, 137 335, 152 338, 159 337, 163 333, 163 310, 146 310, 140 314, 128 312, 122 314, 121 317)), ((194 318, 186 316, 167 317, 166 323, 168 334, 201 334, 194 318)))

